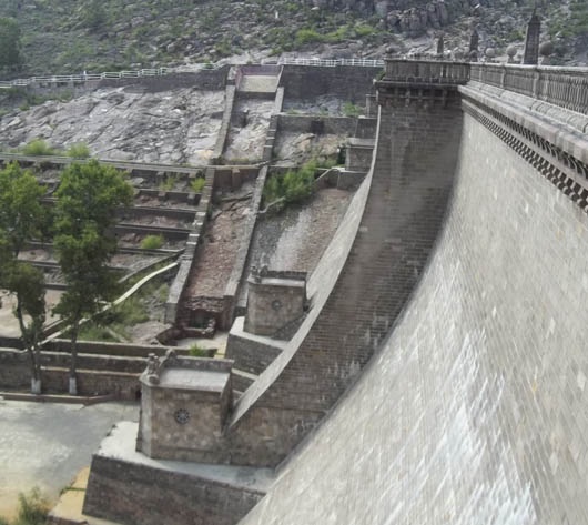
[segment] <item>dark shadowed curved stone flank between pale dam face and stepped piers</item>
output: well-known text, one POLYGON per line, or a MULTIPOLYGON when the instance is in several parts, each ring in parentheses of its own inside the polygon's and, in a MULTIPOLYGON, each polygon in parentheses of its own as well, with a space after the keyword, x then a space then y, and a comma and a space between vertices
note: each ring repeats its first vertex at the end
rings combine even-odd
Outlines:
POLYGON ((379 129, 379 168, 311 279, 320 290, 308 316, 236 405, 233 464, 275 466, 292 452, 356 381, 425 267, 456 169, 457 90, 446 104, 403 98, 382 111, 379 129))

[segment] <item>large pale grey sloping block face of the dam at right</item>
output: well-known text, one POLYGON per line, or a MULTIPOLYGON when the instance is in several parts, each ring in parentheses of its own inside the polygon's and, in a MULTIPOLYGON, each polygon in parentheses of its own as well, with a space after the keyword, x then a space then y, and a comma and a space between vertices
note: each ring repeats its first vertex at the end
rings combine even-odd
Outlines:
POLYGON ((242 525, 588 523, 587 214, 469 113, 458 158, 416 292, 242 525))

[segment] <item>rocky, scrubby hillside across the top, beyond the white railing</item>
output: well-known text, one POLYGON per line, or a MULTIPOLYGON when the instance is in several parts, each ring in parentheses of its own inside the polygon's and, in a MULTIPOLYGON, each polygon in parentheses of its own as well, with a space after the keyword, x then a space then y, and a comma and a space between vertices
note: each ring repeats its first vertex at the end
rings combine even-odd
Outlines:
MULTIPOLYGON (((539 0, 555 63, 586 63, 588 2, 539 0)), ((463 47, 472 26, 498 55, 523 47, 533 0, 2 0, 21 28, 18 74, 70 73, 282 53, 381 54, 463 47)), ((3 77, 7 77, 4 73, 3 77)))

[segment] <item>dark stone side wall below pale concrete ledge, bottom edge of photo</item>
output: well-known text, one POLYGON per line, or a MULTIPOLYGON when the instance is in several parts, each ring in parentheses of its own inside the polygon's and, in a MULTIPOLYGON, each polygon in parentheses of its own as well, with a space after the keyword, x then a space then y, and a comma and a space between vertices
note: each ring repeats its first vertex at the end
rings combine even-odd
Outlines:
POLYGON ((132 452, 121 451, 119 456, 124 457, 93 456, 84 514, 126 525, 233 525, 264 494, 227 482, 214 467, 193 473, 136 460, 132 452))

